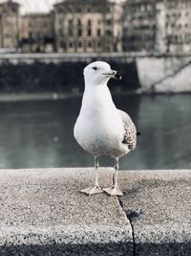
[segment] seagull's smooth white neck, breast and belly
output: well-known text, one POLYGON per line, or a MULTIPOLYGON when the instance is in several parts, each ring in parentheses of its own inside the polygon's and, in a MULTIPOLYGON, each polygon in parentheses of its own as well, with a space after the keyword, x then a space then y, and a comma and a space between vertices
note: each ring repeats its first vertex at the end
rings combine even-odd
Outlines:
POLYGON ((129 151, 122 144, 124 124, 107 86, 85 90, 74 137, 85 151, 97 156, 118 157, 129 151))

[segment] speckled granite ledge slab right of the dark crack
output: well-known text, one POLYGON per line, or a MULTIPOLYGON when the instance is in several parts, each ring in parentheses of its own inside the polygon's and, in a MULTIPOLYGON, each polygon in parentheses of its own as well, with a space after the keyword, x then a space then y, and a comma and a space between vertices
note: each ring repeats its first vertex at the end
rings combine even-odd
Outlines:
POLYGON ((121 172, 136 255, 191 255, 191 171, 121 172))

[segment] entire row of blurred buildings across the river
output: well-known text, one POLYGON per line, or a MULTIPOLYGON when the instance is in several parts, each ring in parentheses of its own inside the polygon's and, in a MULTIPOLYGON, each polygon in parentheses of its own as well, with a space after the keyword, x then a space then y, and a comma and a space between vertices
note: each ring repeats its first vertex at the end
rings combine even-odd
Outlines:
MULTIPOLYGON (((61 0, 60 0, 61 1, 61 0)), ((62 0, 53 12, 21 15, 0 4, 0 48, 23 52, 191 51, 191 0, 62 0)))

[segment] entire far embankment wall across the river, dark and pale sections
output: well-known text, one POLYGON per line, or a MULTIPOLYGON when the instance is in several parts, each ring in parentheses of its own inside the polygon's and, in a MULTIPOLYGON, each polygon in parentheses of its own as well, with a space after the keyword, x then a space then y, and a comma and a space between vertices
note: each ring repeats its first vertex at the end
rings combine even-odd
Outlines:
POLYGON ((84 67, 104 60, 122 75, 125 90, 152 93, 191 92, 190 54, 4 54, 0 55, 0 90, 55 92, 83 89, 84 67))

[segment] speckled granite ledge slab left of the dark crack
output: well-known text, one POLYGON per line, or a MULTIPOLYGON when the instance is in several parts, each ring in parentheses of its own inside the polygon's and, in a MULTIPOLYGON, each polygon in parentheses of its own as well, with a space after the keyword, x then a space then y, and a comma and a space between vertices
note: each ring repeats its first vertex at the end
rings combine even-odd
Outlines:
POLYGON ((0 255, 132 255, 117 198, 79 193, 93 180, 94 169, 0 171, 0 255))

